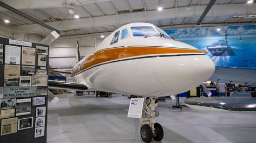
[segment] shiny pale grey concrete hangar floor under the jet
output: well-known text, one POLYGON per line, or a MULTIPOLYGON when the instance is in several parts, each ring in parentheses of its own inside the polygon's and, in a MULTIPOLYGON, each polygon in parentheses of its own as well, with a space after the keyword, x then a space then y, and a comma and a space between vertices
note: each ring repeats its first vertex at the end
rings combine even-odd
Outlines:
MULTIPOLYGON (((57 104, 48 104, 47 142, 135 142, 135 119, 127 118, 127 97, 58 97, 57 104)), ((172 109, 171 104, 175 101, 167 99, 156 108, 156 121, 165 132, 160 142, 256 142, 255 112, 199 112, 172 109)))

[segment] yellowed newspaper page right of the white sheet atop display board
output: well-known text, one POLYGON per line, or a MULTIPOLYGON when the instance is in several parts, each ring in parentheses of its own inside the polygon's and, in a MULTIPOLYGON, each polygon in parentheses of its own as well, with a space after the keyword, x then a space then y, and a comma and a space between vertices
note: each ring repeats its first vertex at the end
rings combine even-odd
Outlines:
POLYGON ((22 47, 22 65, 35 65, 36 49, 22 47))

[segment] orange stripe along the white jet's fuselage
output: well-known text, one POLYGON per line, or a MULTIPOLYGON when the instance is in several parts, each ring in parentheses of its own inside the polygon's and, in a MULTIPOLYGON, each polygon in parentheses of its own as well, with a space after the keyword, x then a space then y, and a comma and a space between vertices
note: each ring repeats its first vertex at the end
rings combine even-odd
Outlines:
MULTIPOLYGON (((181 48, 165 48, 165 47, 119 47, 111 49, 102 49, 84 60, 83 66, 77 65, 79 68, 72 75, 76 75, 89 67, 95 66, 99 63, 117 60, 122 58, 129 58, 132 56, 152 55, 152 54, 175 54, 175 53, 202 53, 198 49, 181 49, 181 48), (83 68, 82 68, 83 67, 83 68)), ((82 64, 82 63, 81 63, 82 64)))

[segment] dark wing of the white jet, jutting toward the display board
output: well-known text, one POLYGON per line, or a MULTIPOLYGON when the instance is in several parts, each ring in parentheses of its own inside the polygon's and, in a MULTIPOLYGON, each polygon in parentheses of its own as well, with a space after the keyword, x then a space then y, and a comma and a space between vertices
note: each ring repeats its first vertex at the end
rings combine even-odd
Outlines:
POLYGON ((88 87, 82 83, 65 82, 65 81, 52 81, 48 80, 48 87, 55 89, 67 89, 76 91, 85 91, 88 87))

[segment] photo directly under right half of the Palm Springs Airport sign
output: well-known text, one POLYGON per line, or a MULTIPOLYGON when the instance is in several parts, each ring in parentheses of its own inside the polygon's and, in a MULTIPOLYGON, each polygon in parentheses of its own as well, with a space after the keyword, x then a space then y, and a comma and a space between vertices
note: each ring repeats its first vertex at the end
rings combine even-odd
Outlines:
POLYGON ((16 100, 16 116, 30 115, 31 113, 31 98, 16 100))

